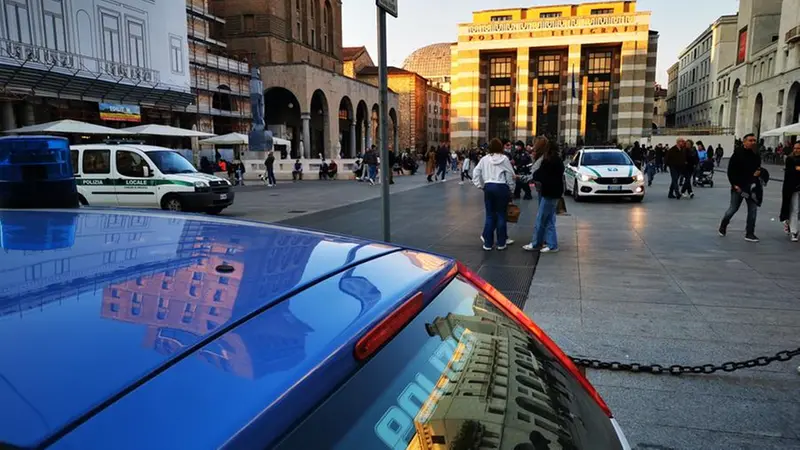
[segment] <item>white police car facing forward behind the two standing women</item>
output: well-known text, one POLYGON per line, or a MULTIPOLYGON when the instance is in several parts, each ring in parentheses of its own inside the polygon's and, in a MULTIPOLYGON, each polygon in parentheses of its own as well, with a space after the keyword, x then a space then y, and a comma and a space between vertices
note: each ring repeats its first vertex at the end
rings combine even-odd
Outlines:
POLYGON ((583 148, 564 171, 565 189, 575 201, 585 197, 644 199, 644 174, 616 148, 583 148))

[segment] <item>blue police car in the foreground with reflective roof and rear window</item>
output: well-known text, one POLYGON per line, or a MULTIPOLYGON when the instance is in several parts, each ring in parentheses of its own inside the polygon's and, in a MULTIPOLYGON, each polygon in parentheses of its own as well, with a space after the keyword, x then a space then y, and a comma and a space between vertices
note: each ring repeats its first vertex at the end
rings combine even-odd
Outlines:
POLYGON ((0 447, 627 449, 463 265, 202 216, 0 210, 0 447))

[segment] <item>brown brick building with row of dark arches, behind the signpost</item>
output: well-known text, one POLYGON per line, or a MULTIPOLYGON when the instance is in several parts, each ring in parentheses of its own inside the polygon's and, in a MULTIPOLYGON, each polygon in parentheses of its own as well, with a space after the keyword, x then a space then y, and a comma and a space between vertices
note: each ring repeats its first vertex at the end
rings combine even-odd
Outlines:
MULTIPOLYGON (((213 0, 213 5, 227 22, 231 53, 259 67, 267 129, 291 141, 287 156, 354 157, 378 142, 378 89, 345 76, 341 2, 213 0)), ((391 143, 396 94, 390 93, 389 105, 391 143)))

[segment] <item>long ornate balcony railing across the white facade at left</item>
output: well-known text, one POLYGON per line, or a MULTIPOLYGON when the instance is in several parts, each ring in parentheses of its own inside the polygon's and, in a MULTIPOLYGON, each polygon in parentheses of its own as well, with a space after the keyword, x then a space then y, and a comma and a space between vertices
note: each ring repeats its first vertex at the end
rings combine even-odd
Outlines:
POLYGON ((43 70, 63 69, 74 76, 98 78, 107 75, 115 80, 127 80, 136 84, 159 83, 157 70, 0 38, 0 60, 2 59, 11 59, 20 66, 30 65, 31 68, 43 70))

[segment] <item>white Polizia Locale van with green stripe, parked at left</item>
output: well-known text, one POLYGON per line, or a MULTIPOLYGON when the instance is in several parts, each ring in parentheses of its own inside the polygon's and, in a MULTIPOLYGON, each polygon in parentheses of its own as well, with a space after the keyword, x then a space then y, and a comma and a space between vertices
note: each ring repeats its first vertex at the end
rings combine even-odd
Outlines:
POLYGON ((70 147, 81 205, 162 208, 219 214, 233 204, 231 184, 198 172, 180 153, 140 144, 70 147))

